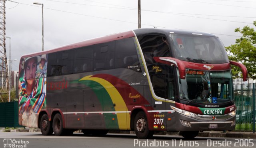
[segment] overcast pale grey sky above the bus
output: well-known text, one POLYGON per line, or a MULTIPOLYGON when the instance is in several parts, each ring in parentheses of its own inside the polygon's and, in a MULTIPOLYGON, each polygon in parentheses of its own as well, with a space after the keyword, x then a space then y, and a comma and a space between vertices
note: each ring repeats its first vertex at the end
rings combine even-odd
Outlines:
MULTIPOLYGON (((44 4, 44 50, 138 28, 138 0, 6 1, 12 70, 23 54, 42 50, 42 6, 33 2, 44 4)), ((141 0, 141 9, 142 28, 209 32, 224 46, 241 36, 235 28, 256 20, 256 0, 141 0)), ((8 38, 6 52, 9 58, 8 38)))

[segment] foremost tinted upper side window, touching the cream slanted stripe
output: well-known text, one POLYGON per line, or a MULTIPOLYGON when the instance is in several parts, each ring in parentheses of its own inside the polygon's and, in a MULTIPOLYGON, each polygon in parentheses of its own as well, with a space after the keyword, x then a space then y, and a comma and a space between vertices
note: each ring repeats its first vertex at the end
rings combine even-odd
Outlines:
MULTIPOLYGON (((115 68, 128 68, 138 71, 140 64, 133 38, 116 40, 115 68)), ((138 71, 138 72, 141 72, 138 71)))

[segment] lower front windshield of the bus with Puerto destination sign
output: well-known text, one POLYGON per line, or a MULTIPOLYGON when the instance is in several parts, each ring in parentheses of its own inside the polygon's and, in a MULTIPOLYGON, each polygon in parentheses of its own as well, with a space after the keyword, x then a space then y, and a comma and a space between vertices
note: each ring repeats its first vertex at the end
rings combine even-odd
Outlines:
POLYGON ((232 97, 231 72, 186 70, 180 79, 180 98, 202 104, 230 102, 232 97))

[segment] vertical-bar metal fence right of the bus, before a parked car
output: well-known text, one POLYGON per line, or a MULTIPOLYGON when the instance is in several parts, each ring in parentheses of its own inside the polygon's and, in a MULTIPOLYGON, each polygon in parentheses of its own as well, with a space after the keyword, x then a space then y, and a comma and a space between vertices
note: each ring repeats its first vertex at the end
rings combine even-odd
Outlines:
POLYGON ((234 85, 237 131, 255 132, 255 83, 234 85))

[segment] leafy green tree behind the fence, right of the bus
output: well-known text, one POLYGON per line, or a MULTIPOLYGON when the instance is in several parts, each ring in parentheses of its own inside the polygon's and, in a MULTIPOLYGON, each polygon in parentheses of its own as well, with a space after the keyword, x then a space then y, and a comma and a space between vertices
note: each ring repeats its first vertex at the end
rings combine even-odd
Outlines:
MULTIPOLYGON (((256 26, 256 21, 253 22, 256 26)), ((230 51, 229 59, 241 62, 248 70, 248 77, 256 79, 256 31, 254 28, 244 26, 236 28, 235 32, 242 34, 241 38, 236 39, 236 44, 226 47, 230 51)), ((240 68, 232 66, 232 74, 238 76, 240 68)))

